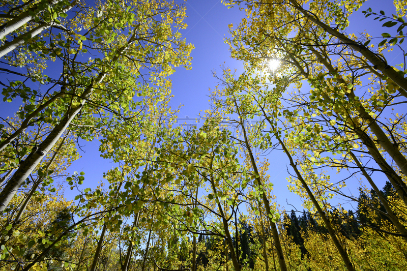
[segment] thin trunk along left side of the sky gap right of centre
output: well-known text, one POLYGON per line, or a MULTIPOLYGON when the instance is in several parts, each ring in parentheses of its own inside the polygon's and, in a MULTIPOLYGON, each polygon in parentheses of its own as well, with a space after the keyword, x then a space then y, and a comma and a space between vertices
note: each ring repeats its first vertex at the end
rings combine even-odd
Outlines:
MULTIPOLYGON (((237 113, 239 114, 239 117, 241 117, 241 113, 239 111, 239 107, 238 107, 238 104, 237 104, 236 101, 235 101, 235 106, 236 106, 236 109, 237 109, 237 113)), ((250 144, 249 144, 249 139, 247 137, 246 129, 244 127, 244 123, 243 123, 242 119, 240 119, 240 127, 242 128, 242 131, 243 131, 243 136, 244 136, 244 140, 245 140, 246 149, 247 149, 247 152, 248 152, 248 155, 249 155, 249 158, 250 158, 251 166, 252 166, 254 174, 255 174, 255 178, 257 180, 257 186, 258 187, 263 187, 263 183, 261 182, 261 178, 260 178, 260 175, 258 173, 257 165, 256 165, 256 162, 254 160, 253 153, 251 151, 251 147, 250 147, 250 144)), ((281 271, 287 271, 288 269, 287 269, 287 265, 286 265, 286 262, 285 262, 285 259, 284 259, 283 250, 282 250, 281 242, 280 242, 280 237, 278 235, 276 223, 273 222, 273 219, 272 219, 273 214, 272 214, 271 209, 270 209, 270 202, 269 202, 269 199, 267 198, 267 195, 266 195, 265 192, 261 194, 261 198, 263 199, 263 204, 264 204, 264 206, 266 208, 266 216, 267 216, 267 218, 269 220, 269 223, 270 223, 271 232, 272 232, 272 235, 273 235, 274 244, 275 244, 276 251, 277 251, 277 258, 278 258, 278 263, 280 265, 280 269, 281 269, 281 271)))

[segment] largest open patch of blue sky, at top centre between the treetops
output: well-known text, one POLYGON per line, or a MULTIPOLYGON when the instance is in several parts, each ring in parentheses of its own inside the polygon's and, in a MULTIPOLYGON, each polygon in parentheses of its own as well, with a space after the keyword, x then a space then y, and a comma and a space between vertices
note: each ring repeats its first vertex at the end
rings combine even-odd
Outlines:
POLYGON ((229 36, 228 24, 240 22, 244 12, 227 9, 220 0, 190 0, 185 5, 188 27, 181 34, 195 49, 191 53, 192 70, 178 68, 170 77, 175 96, 171 104, 183 104, 180 117, 196 117, 200 110, 209 109, 208 89, 216 84, 212 70, 219 70, 226 62, 226 66, 243 71, 243 63, 230 57, 224 38, 229 36))

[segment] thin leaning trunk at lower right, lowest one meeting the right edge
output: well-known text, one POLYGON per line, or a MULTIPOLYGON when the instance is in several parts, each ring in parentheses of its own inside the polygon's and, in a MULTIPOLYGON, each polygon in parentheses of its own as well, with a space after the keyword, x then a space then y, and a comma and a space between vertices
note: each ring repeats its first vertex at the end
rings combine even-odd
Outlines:
POLYGON ((370 177, 369 174, 367 174, 366 170, 362 166, 362 164, 359 162, 358 158, 355 156, 355 154, 352 151, 349 151, 349 154, 351 155, 352 159, 355 161, 356 165, 359 167, 359 169, 362 171, 363 176, 367 179, 369 182, 370 186, 373 188, 374 192, 376 192, 377 197, 379 197, 380 202, 382 205, 385 207, 385 210, 387 212, 387 215, 391 222, 394 224, 394 226, 397 228, 398 232, 403 234, 403 239, 407 242, 407 230, 405 227, 400 223, 399 219, 397 218, 396 214, 393 212, 391 209, 387 199, 382 195, 382 192, 377 188, 376 184, 373 182, 372 178, 370 177))

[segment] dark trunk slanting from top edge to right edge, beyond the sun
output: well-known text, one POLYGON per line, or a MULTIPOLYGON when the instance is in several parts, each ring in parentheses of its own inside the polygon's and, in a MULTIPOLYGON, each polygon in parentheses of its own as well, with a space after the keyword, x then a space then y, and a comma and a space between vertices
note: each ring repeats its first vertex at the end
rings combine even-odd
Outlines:
MULTIPOLYGON (((380 70, 383 74, 389 77, 393 82, 399 85, 402 89, 400 90, 400 94, 407 98, 407 79, 404 78, 402 74, 399 74, 397 71, 394 70, 393 67, 389 66, 384 58, 377 56, 374 52, 370 51, 369 48, 364 46, 363 44, 356 42, 342 33, 339 33, 336 29, 333 29, 331 26, 325 24, 324 22, 320 21, 314 15, 310 14, 307 10, 303 9, 296 0, 288 0, 289 3, 292 4, 298 11, 300 11, 305 18, 310 20, 311 22, 315 23, 326 32, 331 34, 332 36, 336 37, 338 40, 346 44, 347 46, 351 47, 353 50, 360 52, 376 70, 380 70)), ((397 163, 397 162, 396 162, 397 163)), ((406 171, 403 170, 403 173, 407 175, 407 165, 404 167, 406 171)))

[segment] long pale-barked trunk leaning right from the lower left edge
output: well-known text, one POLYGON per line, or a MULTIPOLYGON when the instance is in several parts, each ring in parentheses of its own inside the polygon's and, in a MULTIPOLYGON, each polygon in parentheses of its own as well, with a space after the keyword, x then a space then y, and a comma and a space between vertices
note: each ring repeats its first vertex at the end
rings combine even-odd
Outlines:
MULTIPOLYGON (((112 58, 112 63, 116 62, 123 54, 124 50, 134 41, 134 36, 135 32, 129 39, 127 45, 123 46, 118 51, 118 54, 112 58)), ((7 207, 10 200, 20 188, 24 180, 28 176, 30 176, 31 172, 33 172, 33 170, 37 167, 41 160, 46 156, 46 154, 53 147, 56 141, 64 134, 65 130, 70 125, 75 116, 82 110, 83 105, 86 103, 93 92, 93 85, 101 83, 106 75, 107 73, 105 72, 99 73, 99 75, 93 80, 92 84, 88 86, 80 96, 80 104, 68 109, 60 124, 56 125, 51 133, 46 137, 46 139, 38 146, 37 152, 27 158, 14 173, 14 175, 10 178, 10 180, 7 182, 6 187, 0 194, 0 212, 3 212, 3 210, 7 207)))

